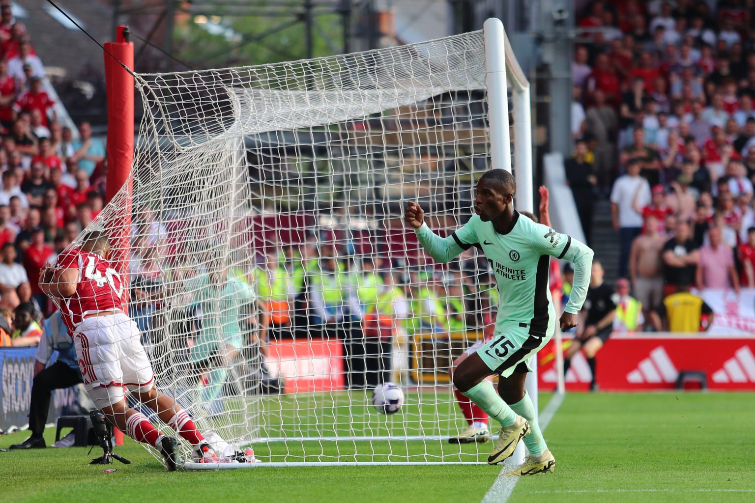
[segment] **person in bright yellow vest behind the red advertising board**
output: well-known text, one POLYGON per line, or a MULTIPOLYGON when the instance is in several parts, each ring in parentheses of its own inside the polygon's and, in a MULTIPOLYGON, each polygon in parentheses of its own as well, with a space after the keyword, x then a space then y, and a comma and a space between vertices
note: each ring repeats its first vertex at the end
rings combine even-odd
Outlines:
POLYGON ((689 285, 667 296, 650 316, 656 332, 701 332, 713 324, 713 309, 689 293, 689 285))

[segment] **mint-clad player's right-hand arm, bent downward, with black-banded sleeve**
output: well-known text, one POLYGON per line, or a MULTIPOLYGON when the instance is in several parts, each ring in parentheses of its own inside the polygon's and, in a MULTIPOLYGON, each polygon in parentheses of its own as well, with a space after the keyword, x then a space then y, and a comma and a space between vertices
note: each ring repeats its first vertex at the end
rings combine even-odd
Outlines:
POLYGON ((593 250, 587 244, 581 243, 571 236, 556 232, 545 225, 535 225, 532 235, 532 246, 545 255, 555 256, 556 259, 574 262, 574 282, 569 302, 564 307, 561 317, 562 330, 569 330, 577 326, 577 313, 587 297, 587 287, 590 286, 590 272, 593 265, 593 250))

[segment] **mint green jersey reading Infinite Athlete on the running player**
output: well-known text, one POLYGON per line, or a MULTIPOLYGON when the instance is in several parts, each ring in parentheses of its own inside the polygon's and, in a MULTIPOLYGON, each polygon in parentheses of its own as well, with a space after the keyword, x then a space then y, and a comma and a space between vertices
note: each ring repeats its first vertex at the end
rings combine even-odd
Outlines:
POLYGON ((485 253, 500 295, 496 333, 550 336, 557 319, 548 285, 550 257, 575 263, 572 296, 564 311, 576 314, 587 296, 593 250, 516 211, 513 219, 507 234, 499 234, 492 222, 474 215, 447 238, 440 238, 427 225, 417 229, 417 236, 438 262, 448 262, 473 246, 485 253))

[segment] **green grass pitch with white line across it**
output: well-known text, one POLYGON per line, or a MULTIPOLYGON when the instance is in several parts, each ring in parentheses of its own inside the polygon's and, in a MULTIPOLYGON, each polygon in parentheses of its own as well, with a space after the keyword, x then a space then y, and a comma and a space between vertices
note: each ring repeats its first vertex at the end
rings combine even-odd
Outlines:
MULTIPOLYGON (((541 408, 548 399, 541 395, 541 408)), ((522 478, 508 501, 753 501, 753 418, 751 393, 569 394, 545 433, 556 473, 522 478)), ((360 424, 365 428, 368 416, 360 424)), ((26 435, 0 437, 0 447, 26 435)), ((51 429, 46 432, 48 443, 53 436, 51 429)), ((322 455, 332 455, 337 446, 325 444, 322 455)), ((432 449, 454 452, 440 444, 432 449)), ((274 454, 281 448, 270 444, 255 451, 274 454)), ((411 453, 414 447, 408 443, 405 449, 411 453)), ((478 455, 474 446, 462 449, 478 455)), ((0 501, 481 501, 501 471, 445 465, 169 474, 128 439, 116 452, 133 465, 89 466, 87 451, 0 452, 0 501), (106 474, 105 468, 118 471, 106 474)))

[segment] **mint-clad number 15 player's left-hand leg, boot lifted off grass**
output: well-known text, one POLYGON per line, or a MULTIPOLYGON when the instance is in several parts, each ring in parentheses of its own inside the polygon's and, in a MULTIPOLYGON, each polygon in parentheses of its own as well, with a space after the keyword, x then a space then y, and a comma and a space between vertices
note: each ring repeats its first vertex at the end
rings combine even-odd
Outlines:
POLYGON ((495 441, 493 452, 488 457, 488 464, 498 465, 514 453, 519 440, 529 431, 529 423, 516 414, 485 379, 491 373, 479 354, 470 354, 456 370, 454 385, 464 396, 470 397, 479 405, 488 416, 501 423, 498 440, 495 441))

